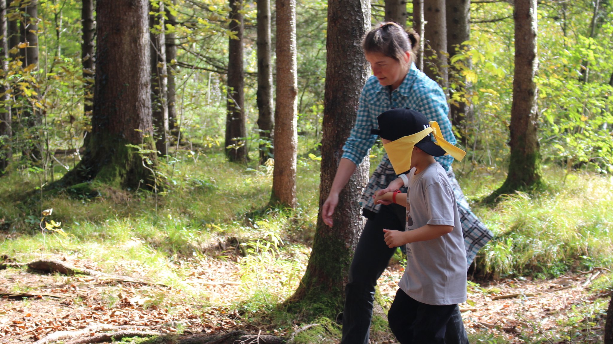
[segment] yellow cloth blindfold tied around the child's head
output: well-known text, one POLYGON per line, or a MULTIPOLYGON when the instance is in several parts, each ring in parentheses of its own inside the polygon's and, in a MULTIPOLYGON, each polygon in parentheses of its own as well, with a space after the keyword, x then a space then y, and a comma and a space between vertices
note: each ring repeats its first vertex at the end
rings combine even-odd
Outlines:
POLYGON ((466 152, 447 142, 443 138, 438 123, 434 121, 429 123, 430 127, 427 127, 421 132, 401 137, 398 140, 394 140, 383 145, 383 148, 385 148, 387 153, 387 157, 389 157, 389 161, 392 163, 396 174, 405 173, 406 171, 411 170, 411 155, 413 155, 413 147, 430 133, 433 133, 436 139, 435 144, 440 146, 440 148, 443 148, 445 154, 451 155, 455 160, 462 161, 462 159, 464 159, 466 152))

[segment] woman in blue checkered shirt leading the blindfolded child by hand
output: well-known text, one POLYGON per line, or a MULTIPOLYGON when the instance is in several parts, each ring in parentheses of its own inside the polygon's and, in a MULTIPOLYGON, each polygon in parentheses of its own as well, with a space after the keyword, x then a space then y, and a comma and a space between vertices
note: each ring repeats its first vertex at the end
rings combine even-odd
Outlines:
MULTIPOLYGON (((379 24, 364 37, 362 47, 367 61, 370 62, 373 76, 368 79, 360 95, 356 125, 343 146, 342 159, 330 195, 322 209, 324 222, 329 226, 333 224, 332 215, 338 204, 338 194, 375 143, 377 136, 371 134, 371 129, 378 128, 379 114, 392 108, 412 108, 420 111, 428 121, 438 122, 444 138, 449 143, 456 143, 451 122, 447 118, 449 107, 443 90, 413 64, 413 47, 417 47, 418 42, 417 34, 407 34, 396 23, 379 24)), ((491 239, 492 233, 470 211, 451 169, 453 158, 444 155, 436 157, 436 160, 447 171, 454 187, 465 237, 468 267, 476 252, 491 239)), ((400 189, 407 184, 397 177, 385 155, 360 200, 367 222, 349 269, 341 344, 368 343, 376 282, 395 251, 395 248, 387 247, 383 228, 405 230, 405 208, 398 204, 375 204, 373 196, 376 192, 400 189)), ((468 343, 459 308, 447 324, 445 341, 447 344, 468 343)))

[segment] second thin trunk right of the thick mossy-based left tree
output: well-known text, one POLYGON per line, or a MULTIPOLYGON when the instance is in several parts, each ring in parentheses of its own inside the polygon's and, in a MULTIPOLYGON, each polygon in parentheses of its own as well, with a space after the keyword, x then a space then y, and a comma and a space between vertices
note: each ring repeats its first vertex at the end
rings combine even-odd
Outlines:
MULTIPOLYGON (((173 0, 173 6, 177 3, 177 0, 173 0)), ((171 8, 172 10, 172 8, 171 8)), ((166 15, 168 17, 168 23, 172 26, 177 25, 177 18, 171 13, 171 10, 166 11, 166 15)), ((178 140, 178 127, 177 124, 177 107, 175 107, 176 102, 176 84, 175 84, 175 75, 179 72, 179 67, 177 65, 177 44, 175 42, 175 31, 171 29, 166 33, 166 68, 168 70, 168 130, 170 132, 170 137, 172 140, 172 136, 177 137, 178 140)))

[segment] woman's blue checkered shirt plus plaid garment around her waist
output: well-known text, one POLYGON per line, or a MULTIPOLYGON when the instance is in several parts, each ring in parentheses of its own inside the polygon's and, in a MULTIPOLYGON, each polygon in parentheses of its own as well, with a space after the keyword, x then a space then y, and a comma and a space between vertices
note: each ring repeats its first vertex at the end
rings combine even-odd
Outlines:
MULTIPOLYGON (((378 129, 377 116, 393 108, 411 108, 423 113, 428 121, 438 122, 445 140, 451 144, 456 143, 451 129, 451 121, 447 118, 449 106, 443 90, 435 81, 428 78, 414 64, 411 64, 411 69, 409 69, 405 80, 392 92, 389 91, 387 86, 381 86, 375 76, 368 78, 360 95, 356 125, 354 125, 343 146, 342 157, 351 160, 356 166, 359 165, 368 150, 375 144, 377 135, 372 135, 370 130, 378 129)), ((492 232, 487 230, 471 212, 470 206, 462 194, 462 189, 455 181, 451 169, 451 162, 454 158, 451 155, 443 155, 442 157, 435 157, 435 159, 443 166, 447 174, 451 173, 453 177, 452 184, 455 184, 453 186, 456 199, 460 200, 457 203, 465 238, 466 258, 470 265, 477 251, 492 238, 492 232), (468 218, 466 218, 467 216, 468 218), (470 225, 466 226, 468 223, 470 225)), ((383 160, 368 181, 360 205, 368 211, 378 212, 381 204, 375 204, 372 196, 376 190, 385 189, 396 178, 397 174, 394 173, 392 164, 389 162, 387 155, 384 155, 383 160)))

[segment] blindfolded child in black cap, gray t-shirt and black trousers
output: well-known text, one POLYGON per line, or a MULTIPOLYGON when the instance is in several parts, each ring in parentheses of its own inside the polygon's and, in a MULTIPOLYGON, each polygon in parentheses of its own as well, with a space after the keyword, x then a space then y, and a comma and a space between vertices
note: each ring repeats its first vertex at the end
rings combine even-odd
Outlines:
POLYGON ((408 177, 401 176, 407 193, 375 196, 376 203, 406 205, 406 231, 383 230, 386 244, 406 244, 407 255, 389 326, 401 344, 444 343, 452 312, 466 301, 466 253, 454 192, 434 157, 449 153, 462 160, 466 153, 444 141, 438 124, 417 111, 388 110, 378 121, 395 172, 408 177))

